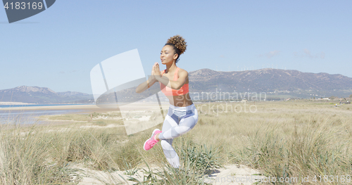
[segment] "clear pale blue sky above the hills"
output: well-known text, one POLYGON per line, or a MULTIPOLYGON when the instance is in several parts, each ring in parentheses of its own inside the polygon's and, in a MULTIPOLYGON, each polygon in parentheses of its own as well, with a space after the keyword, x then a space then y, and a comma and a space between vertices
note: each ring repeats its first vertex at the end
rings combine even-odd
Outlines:
POLYGON ((92 94, 96 64, 138 49, 150 75, 175 34, 188 45, 177 63, 187 71, 279 68, 352 77, 351 7, 352 1, 57 0, 11 24, 0 8, 0 89, 92 94))

